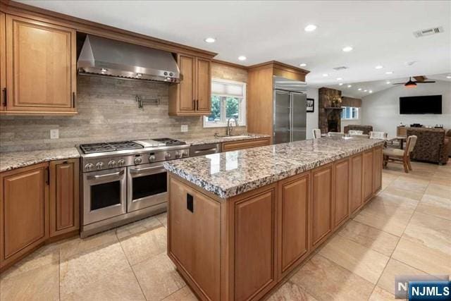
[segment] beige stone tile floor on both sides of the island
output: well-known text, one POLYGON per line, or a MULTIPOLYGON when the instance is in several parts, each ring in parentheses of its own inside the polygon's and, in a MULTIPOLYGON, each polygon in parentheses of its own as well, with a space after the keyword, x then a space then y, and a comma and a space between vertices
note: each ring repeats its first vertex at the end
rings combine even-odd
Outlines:
MULTIPOLYGON (((269 300, 393 300, 397 274, 451 274, 451 164, 383 170, 383 191, 269 300)), ((196 300, 166 256, 166 214, 42 247, 0 300, 196 300)))

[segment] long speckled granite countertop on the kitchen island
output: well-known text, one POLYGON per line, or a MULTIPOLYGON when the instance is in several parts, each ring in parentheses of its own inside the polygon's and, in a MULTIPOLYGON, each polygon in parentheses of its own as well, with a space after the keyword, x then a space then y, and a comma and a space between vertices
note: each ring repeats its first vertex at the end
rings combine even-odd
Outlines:
POLYGON ((384 140, 323 137, 164 162, 164 167, 222 198, 383 145, 384 140))

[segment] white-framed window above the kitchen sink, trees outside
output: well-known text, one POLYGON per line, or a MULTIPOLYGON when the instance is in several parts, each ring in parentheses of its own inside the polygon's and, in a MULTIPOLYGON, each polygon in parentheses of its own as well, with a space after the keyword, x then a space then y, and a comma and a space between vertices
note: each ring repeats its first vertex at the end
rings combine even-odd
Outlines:
POLYGON ((246 125, 246 83, 211 80, 211 114, 204 116, 204 128, 227 126, 231 117, 246 125))

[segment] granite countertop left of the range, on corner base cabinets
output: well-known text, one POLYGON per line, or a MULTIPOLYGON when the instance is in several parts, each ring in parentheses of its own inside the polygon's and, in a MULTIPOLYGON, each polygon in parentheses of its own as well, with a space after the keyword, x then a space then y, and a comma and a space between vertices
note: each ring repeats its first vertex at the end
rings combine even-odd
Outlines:
POLYGON ((75 147, 30 152, 3 152, 0 153, 0 172, 52 160, 78 158, 79 156, 80 154, 75 147))

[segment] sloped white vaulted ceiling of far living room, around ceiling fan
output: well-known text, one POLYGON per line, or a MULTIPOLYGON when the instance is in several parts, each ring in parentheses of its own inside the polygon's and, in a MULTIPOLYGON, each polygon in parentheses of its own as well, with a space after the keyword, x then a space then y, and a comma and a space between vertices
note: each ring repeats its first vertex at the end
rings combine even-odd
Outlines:
MULTIPOLYGON (((439 81, 450 82, 450 85, 451 85, 451 78, 447 78, 447 76, 450 76, 450 73, 427 75, 426 78, 427 78, 427 80, 439 80, 439 81)), ((385 80, 352 82, 350 84, 343 84, 343 85, 334 83, 333 85, 326 85, 326 87, 340 90, 342 92, 343 96, 362 98, 362 97, 368 96, 369 94, 374 94, 377 92, 381 92, 383 90, 387 90, 387 89, 396 87, 395 85, 393 85, 395 82, 407 82, 407 80, 409 80, 409 78, 387 78, 385 80), (351 85, 351 87, 347 87, 348 85, 351 85), (359 90, 359 89, 361 89, 361 90, 359 90)), ((416 81, 414 78, 412 78, 412 80, 416 81)), ((423 85, 431 85, 431 84, 423 84, 423 85)))

